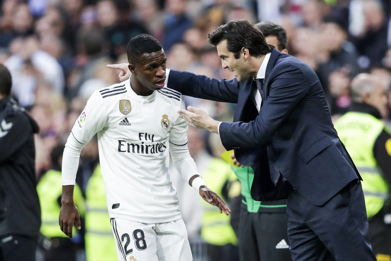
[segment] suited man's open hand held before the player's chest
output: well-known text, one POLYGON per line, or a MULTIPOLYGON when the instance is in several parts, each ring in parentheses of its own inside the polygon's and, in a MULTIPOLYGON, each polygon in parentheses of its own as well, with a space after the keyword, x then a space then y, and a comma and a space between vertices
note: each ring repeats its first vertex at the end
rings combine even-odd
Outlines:
POLYGON ((188 106, 187 110, 188 111, 179 110, 179 117, 185 119, 187 123, 196 128, 203 128, 207 129, 209 132, 218 133, 218 124, 220 122, 212 119, 212 117, 209 116, 209 113, 192 106, 188 106))

